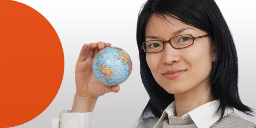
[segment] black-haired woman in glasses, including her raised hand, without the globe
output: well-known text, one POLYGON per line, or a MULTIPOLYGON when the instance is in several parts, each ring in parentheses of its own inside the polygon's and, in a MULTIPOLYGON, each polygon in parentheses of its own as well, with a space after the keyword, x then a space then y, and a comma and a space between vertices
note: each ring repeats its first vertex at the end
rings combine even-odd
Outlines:
MULTIPOLYGON (((213 0, 148 0, 138 17, 137 44, 150 100, 134 127, 256 128, 233 113, 253 111, 239 99, 236 48, 213 0)), ((96 52, 110 45, 82 47, 73 108, 61 113, 61 127, 90 127, 98 97, 119 91, 100 83, 91 67, 96 52)))

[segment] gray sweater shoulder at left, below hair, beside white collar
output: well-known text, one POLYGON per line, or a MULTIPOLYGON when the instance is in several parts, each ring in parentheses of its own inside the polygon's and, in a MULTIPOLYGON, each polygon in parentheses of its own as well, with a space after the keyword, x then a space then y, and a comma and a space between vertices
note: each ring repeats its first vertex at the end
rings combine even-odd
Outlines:
POLYGON ((157 122, 158 122, 159 118, 158 117, 148 117, 148 118, 143 118, 138 120, 135 124, 134 124, 134 128, 153 128, 157 122))

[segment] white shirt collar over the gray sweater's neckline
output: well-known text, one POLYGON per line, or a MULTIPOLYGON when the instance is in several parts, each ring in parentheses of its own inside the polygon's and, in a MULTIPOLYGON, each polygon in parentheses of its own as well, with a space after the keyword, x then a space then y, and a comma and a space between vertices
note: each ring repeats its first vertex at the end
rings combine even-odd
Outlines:
MULTIPOLYGON (((209 128, 220 118, 220 115, 214 115, 215 111, 218 108, 218 105, 219 100, 214 100, 212 102, 201 105, 198 108, 195 108, 194 110, 184 114, 183 116, 189 115, 198 128, 209 128)), ((174 101, 170 105, 168 105, 168 107, 163 111, 162 116, 160 117, 154 128, 158 128, 162 124, 163 120, 166 119, 167 115, 175 116, 175 111, 176 110, 174 101)), ((231 112, 234 112, 234 110, 231 108, 225 108, 224 116, 231 112)))

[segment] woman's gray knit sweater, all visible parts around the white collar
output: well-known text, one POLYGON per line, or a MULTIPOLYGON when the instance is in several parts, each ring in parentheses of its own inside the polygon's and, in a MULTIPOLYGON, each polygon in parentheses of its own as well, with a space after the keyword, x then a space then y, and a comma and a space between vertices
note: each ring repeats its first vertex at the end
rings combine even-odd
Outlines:
MULTIPOLYGON (((143 119, 136 128, 154 128, 159 118, 143 119)), ((190 116, 168 116, 159 128, 197 128, 190 116)), ((229 113, 220 122, 215 122, 210 128, 256 128, 256 124, 243 119, 236 113, 229 113)))

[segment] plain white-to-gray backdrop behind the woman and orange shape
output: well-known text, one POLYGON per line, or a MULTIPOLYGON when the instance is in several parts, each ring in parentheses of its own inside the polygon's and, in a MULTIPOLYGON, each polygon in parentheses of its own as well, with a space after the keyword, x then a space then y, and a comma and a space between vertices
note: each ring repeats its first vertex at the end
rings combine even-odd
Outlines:
MULTIPOLYGON (((140 79, 136 43, 137 15, 146 0, 16 0, 40 12, 52 24, 64 50, 64 77, 49 107, 31 121, 13 128, 51 128, 51 119, 71 110, 76 92, 75 65, 84 43, 104 41, 124 49, 133 70, 119 93, 99 97, 92 128, 130 127, 148 102, 140 79)), ((254 0, 215 0, 230 27, 239 58, 239 95, 256 108, 256 9, 254 0)), ((47 93, 45 94, 47 95, 47 93)), ((256 123, 256 117, 240 116, 256 123)))

